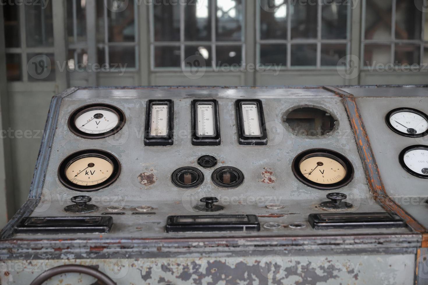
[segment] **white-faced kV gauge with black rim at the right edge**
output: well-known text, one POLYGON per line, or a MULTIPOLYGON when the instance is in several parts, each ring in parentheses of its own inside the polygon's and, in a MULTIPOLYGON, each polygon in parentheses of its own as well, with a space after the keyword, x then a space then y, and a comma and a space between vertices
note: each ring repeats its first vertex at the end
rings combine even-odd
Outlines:
POLYGON ((399 135, 417 138, 428 134, 428 116, 416 109, 394 109, 385 120, 389 128, 399 135))

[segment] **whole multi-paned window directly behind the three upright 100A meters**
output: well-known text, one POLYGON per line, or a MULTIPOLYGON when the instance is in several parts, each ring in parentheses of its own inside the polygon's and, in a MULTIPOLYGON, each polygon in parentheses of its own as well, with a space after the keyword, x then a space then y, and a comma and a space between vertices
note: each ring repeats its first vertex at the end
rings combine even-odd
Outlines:
POLYGON ((153 2, 152 69, 186 68, 192 65, 186 59, 194 55, 208 68, 241 65, 243 13, 243 0, 153 2))

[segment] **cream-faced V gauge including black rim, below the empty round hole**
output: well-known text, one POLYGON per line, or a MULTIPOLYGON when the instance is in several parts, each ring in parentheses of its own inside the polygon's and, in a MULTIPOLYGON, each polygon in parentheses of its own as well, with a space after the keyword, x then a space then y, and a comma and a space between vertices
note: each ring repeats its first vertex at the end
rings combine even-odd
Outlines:
POLYGON ((305 150, 292 163, 294 176, 320 190, 341 188, 351 182, 354 167, 342 154, 327 149, 305 150))

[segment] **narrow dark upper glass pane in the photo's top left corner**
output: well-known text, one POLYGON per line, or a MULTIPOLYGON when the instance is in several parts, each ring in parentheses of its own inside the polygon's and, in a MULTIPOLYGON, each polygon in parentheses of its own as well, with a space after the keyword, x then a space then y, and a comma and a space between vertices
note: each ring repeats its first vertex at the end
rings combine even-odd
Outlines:
POLYGON ((4 17, 4 33, 6 39, 6 47, 20 47, 21 39, 19 32, 19 7, 7 3, 3 6, 4 17))

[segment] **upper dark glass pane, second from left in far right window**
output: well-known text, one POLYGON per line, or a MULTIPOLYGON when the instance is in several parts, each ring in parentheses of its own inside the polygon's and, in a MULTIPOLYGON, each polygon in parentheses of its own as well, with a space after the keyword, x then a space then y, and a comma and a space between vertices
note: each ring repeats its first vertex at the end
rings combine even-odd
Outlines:
POLYGON ((416 1, 397 2, 395 13, 395 38, 418 40, 422 32, 422 11, 415 6, 416 1))

